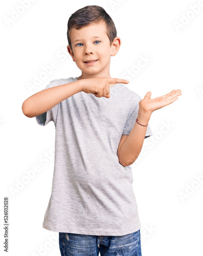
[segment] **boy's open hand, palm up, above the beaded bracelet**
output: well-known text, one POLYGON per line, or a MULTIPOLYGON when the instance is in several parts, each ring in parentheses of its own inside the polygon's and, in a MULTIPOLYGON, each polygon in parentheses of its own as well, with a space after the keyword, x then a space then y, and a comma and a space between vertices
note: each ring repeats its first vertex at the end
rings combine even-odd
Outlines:
POLYGON ((178 96, 182 95, 181 90, 173 90, 170 93, 157 97, 155 99, 150 99, 151 92, 148 92, 144 99, 139 102, 139 110, 144 111, 145 113, 151 115, 155 110, 163 108, 178 99, 178 96))

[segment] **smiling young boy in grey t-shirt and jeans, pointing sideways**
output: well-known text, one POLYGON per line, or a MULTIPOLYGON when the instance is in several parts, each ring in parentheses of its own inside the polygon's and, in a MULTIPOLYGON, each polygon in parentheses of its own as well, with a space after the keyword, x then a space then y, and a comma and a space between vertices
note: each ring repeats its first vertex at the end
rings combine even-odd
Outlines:
POLYGON ((156 99, 148 92, 141 100, 124 86, 127 80, 110 77, 121 39, 100 6, 73 13, 67 39, 81 76, 52 80, 22 104, 26 116, 56 127, 52 194, 42 227, 59 232, 61 255, 140 256, 130 164, 152 135, 151 113, 181 92, 156 99))

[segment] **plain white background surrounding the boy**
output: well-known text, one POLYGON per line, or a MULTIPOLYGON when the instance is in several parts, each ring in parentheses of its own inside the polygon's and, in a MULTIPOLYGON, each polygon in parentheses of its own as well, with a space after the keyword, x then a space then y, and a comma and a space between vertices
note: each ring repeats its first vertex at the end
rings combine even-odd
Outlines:
POLYGON ((28 2, 1 4, 1 253, 3 201, 9 197, 9 255, 60 255, 58 233, 42 228, 51 195, 55 126, 38 125, 21 105, 51 80, 81 75, 66 49, 67 21, 86 5, 100 5, 122 41, 111 57, 111 77, 124 78, 140 56, 147 56, 146 66, 128 79, 130 90, 142 98, 148 91, 155 98, 182 90, 175 102, 152 113, 153 137, 145 139, 131 166, 142 255, 202 256, 203 7, 191 11, 202 1, 28 2), (52 61, 58 67, 36 83, 52 61), (26 172, 36 165, 40 171, 29 179, 26 172))

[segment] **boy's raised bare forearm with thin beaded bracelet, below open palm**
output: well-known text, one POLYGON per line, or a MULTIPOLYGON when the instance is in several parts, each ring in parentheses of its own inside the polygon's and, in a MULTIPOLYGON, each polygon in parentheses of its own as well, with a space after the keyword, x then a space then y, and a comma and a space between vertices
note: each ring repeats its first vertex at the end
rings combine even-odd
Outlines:
MULTIPOLYGON (((139 109, 137 118, 139 123, 146 125, 149 122, 150 116, 150 114, 144 113, 139 109)), ((146 131, 147 126, 142 126, 137 122, 134 123, 130 134, 121 145, 118 153, 119 162, 122 165, 128 166, 136 161, 142 150, 146 131)))

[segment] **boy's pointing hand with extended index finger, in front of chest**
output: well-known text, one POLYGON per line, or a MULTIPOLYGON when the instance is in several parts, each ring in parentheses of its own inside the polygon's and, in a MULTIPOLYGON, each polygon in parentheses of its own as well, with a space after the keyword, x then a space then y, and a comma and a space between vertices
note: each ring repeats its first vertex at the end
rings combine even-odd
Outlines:
POLYGON ((95 97, 106 97, 109 98, 109 84, 116 83, 128 83, 129 81, 125 79, 119 78, 107 78, 107 77, 97 77, 97 78, 88 78, 88 79, 81 79, 82 81, 82 91, 85 93, 92 93, 95 97))

